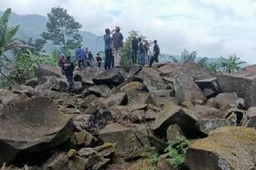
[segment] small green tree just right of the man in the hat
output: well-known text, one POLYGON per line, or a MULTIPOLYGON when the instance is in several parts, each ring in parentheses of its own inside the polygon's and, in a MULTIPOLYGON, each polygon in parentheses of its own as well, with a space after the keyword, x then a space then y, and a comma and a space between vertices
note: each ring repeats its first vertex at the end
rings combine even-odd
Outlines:
MULTIPOLYGON (((143 35, 139 35, 138 31, 130 31, 128 32, 128 37, 127 39, 124 41, 123 43, 123 55, 122 55, 122 59, 121 59, 121 65, 123 65, 124 67, 129 67, 133 64, 132 61, 132 40, 133 37, 141 37, 142 40, 146 40, 146 37, 143 35)), ((138 57, 139 59, 139 57, 138 57)))

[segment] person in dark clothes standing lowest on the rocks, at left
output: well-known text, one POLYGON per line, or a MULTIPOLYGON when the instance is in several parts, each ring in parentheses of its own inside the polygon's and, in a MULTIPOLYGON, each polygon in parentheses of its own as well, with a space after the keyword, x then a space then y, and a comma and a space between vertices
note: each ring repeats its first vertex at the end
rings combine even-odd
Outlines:
POLYGON ((65 77, 67 80, 67 92, 71 92, 71 88, 73 86, 73 72, 75 69, 75 65, 73 62, 71 62, 70 60, 70 56, 66 57, 66 61, 64 64, 64 73, 65 73, 65 77))

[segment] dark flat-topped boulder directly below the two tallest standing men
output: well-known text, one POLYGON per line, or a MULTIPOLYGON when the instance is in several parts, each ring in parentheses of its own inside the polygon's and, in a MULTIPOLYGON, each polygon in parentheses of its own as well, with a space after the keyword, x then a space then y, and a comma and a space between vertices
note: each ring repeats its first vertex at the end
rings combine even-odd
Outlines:
POLYGON ((94 77, 93 82, 97 85, 107 84, 107 85, 118 86, 119 84, 124 82, 122 70, 109 69, 104 73, 100 73, 99 75, 94 77))

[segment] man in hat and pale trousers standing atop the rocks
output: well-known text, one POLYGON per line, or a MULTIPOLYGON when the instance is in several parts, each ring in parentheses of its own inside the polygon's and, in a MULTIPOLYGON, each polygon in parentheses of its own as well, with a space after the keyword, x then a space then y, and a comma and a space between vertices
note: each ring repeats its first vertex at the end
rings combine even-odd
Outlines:
POLYGON ((112 42, 114 48, 114 67, 120 67, 122 47, 123 47, 123 35, 120 32, 120 27, 116 26, 115 32, 112 35, 112 42))

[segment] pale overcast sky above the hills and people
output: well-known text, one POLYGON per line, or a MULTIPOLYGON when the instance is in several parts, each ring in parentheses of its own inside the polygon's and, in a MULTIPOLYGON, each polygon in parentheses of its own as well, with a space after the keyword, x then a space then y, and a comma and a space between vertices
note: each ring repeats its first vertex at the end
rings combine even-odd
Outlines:
POLYGON ((158 40, 163 53, 235 53, 256 64, 256 0, 0 0, 0 10, 7 7, 43 16, 51 7, 64 7, 96 35, 120 26, 123 35, 136 30, 158 40))

